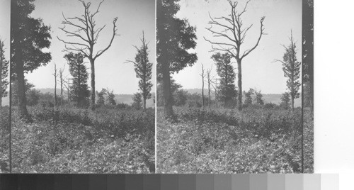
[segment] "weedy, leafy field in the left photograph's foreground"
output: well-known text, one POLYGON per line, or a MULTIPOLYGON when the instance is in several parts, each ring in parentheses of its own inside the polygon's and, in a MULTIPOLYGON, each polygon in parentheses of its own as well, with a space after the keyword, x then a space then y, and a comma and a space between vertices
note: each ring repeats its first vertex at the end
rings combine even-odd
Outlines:
POLYGON ((154 172, 152 108, 144 113, 127 108, 93 112, 32 106, 27 123, 13 110, 13 172, 154 172))

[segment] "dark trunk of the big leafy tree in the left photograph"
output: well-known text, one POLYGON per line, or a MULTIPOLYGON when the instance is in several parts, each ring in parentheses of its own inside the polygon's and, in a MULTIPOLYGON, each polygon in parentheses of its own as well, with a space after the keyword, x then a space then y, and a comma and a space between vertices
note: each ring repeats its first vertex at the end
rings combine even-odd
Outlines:
POLYGON ((16 65, 17 74, 17 97, 18 97, 18 112, 21 118, 28 116, 27 102, 25 99, 25 74, 23 74, 23 64, 16 65))

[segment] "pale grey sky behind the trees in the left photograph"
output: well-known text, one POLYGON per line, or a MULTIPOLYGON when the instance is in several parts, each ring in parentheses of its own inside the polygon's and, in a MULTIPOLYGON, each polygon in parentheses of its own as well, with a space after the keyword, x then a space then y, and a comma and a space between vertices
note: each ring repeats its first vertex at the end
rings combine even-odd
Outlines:
MULTIPOLYGON (((4 1, 4 0, 1 0, 4 1)), ((91 1, 92 11, 96 11, 100 1, 91 1)), ((55 81, 54 65, 62 68, 65 65, 64 75, 69 75, 69 65, 63 58, 65 52, 64 43, 57 39, 74 40, 65 36, 59 27, 62 27, 62 13, 66 17, 81 16, 84 13, 84 6, 81 2, 73 0, 36 0, 35 11, 31 14, 33 18, 42 18, 43 23, 51 26, 52 45, 44 51, 52 52, 52 61, 46 66, 39 67, 25 77, 29 82, 35 84, 35 88, 54 88, 55 81)), ((154 0, 105 0, 101 4, 100 12, 96 17, 96 27, 105 26, 98 38, 95 50, 105 48, 112 38, 113 18, 118 17, 116 23, 118 36, 115 36, 112 46, 96 59, 96 90, 108 87, 115 94, 134 94, 138 91, 138 81, 132 63, 125 63, 127 60, 135 60, 137 50, 132 45, 140 47, 142 45, 142 30, 149 48, 149 60, 155 65, 155 2, 154 0)), ((96 52, 96 51, 95 51, 96 52)), ((87 62, 88 72, 91 73, 89 60, 87 62)), ((155 81, 153 72, 153 82, 155 81)), ((88 81, 90 85, 90 79, 88 81)), ((154 91, 154 89, 152 89, 154 91)))

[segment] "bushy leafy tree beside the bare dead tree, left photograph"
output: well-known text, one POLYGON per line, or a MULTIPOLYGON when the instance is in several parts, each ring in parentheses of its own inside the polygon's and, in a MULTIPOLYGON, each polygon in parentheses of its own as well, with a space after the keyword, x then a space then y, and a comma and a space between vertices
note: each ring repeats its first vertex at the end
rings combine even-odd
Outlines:
POLYGON ((64 55, 64 58, 68 62, 69 72, 73 77, 70 99, 75 106, 85 107, 88 103, 90 91, 87 85, 89 74, 87 73, 86 65, 84 65, 84 55, 69 52, 64 55))

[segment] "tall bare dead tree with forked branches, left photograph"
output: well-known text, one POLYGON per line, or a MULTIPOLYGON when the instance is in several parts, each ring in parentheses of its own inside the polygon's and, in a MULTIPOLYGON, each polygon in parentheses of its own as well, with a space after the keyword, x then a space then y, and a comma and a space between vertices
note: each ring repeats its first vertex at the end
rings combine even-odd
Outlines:
POLYGON ((101 4, 104 0, 101 1, 100 4, 98 4, 98 7, 94 12, 91 12, 90 10, 91 2, 86 3, 85 1, 79 1, 81 2, 82 6, 84 6, 84 13, 81 16, 68 18, 63 15, 64 21, 62 21, 62 24, 64 26, 59 29, 64 31, 67 37, 75 38, 77 40, 80 40, 80 42, 76 43, 72 40, 62 40, 59 37, 57 38, 65 44, 65 51, 81 52, 82 55, 89 59, 91 64, 91 109, 95 110, 95 61, 97 57, 100 57, 103 52, 108 50, 110 45, 112 45, 115 36, 118 35, 115 26, 118 17, 113 18, 113 35, 112 38, 110 38, 110 42, 107 47, 105 47, 103 50, 93 52, 93 47, 95 47, 95 45, 97 44, 98 37, 100 36, 101 31, 103 30, 103 28, 105 28, 105 25, 101 28, 96 28, 95 21, 95 16, 97 13, 99 13, 101 4), (69 30, 67 29, 69 27, 76 29, 69 30))

